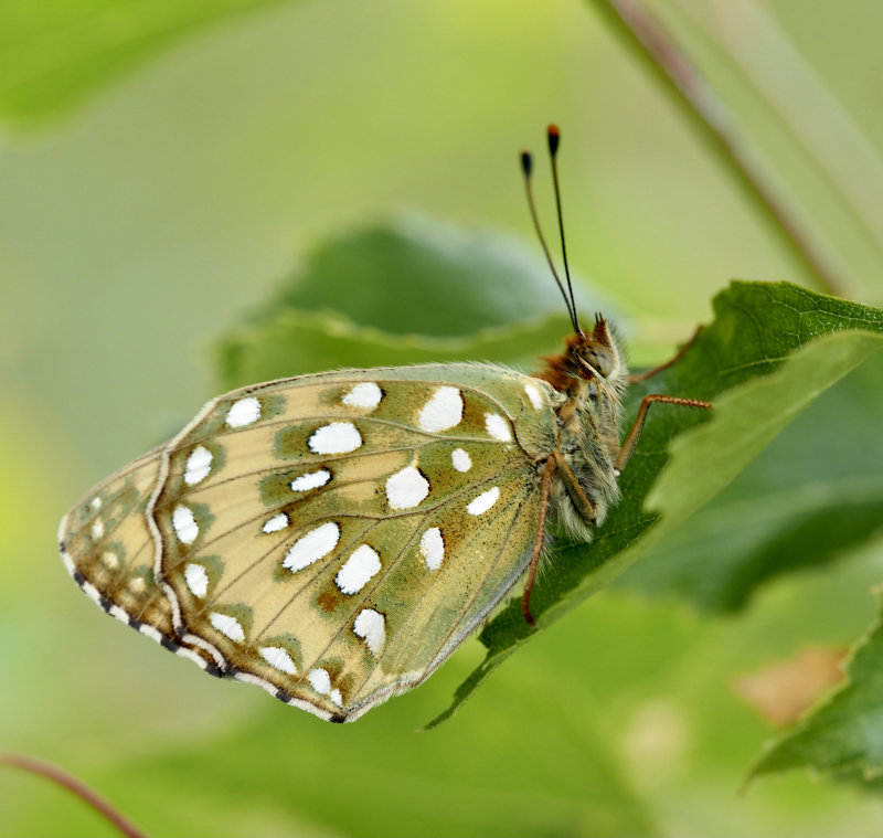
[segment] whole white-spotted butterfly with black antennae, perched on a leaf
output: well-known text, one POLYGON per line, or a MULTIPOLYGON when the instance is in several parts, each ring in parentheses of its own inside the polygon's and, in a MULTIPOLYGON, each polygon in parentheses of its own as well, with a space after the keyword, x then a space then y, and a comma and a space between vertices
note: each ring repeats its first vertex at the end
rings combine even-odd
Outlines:
MULTIPOLYGON (((558 132, 549 130, 555 193, 558 132)), ((528 375, 481 363, 342 370, 209 402, 63 519, 62 559, 105 612, 208 672, 334 722, 408 690, 526 575, 547 530, 589 540, 626 442, 628 370, 602 315, 528 375)), ((558 226, 563 224, 560 214, 558 226)))

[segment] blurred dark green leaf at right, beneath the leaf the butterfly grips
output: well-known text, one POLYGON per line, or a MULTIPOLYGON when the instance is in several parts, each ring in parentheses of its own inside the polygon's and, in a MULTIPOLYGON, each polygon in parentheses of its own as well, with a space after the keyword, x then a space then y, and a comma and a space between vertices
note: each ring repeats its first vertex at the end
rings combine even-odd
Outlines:
POLYGON ((883 526, 883 354, 800 415, 616 584, 734 612, 758 587, 836 561, 883 526), (709 561, 713 545, 714 561, 709 561))

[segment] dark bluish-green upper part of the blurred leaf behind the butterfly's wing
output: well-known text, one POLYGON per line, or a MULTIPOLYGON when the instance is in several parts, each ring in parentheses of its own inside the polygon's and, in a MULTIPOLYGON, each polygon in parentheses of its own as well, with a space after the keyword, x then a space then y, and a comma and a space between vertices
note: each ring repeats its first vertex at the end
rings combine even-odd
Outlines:
POLYGON ((320 244, 251 320, 289 308, 435 338, 564 310, 549 267, 517 241, 414 214, 320 244))

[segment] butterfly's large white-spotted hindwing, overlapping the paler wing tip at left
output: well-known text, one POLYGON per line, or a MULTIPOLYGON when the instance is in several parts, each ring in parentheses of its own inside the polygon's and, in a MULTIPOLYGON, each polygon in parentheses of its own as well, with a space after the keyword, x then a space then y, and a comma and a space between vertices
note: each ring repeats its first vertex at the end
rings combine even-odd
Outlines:
POLYGON ((529 560, 555 433, 531 381, 345 371, 208 405, 147 509, 179 633, 323 718, 422 681, 529 560))

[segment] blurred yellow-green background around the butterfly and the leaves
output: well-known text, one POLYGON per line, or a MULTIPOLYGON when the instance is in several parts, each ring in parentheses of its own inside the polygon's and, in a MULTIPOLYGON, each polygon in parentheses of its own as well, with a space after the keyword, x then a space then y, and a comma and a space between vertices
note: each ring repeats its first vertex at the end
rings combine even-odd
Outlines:
MULTIPOLYGON (((517 152, 541 150, 550 120, 582 291, 620 314, 640 360, 706 320, 731 277, 819 288, 591 4, 182 3, 211 25, 168 38, 178 7, 145 4, 145 22, 127 3, 29 6, 4 12, 20 42, 0 26, 0 70, 23 79, 0 96, 0 747, 65 766, 153 835, 880 834, 877 800, 802 774, 740 796, 774 729, 733 689, 866 626, 879 540, 836 580, 774 582, 737 616, 606 592, 423 734, 480 660, 476 641, 421 689, 332 726, 109 620, 56 556, 63 512, 214 394, 213 341, 318 243, 417 212, 534 248, 517 152), (139 61, 115 64, 102 39, 138 25, 139 61), (65 68, 84 31, 95 55, 65 68), (41 50, 61 56, 42 87, 41 50)), ((759 30, 753 4, 657 6, 844 291, 879 304, 868 232, 818 176, 820 157, 868 200, 855 166, 883 145, 879 4, 777 0, 759 30), (741 35, 726 61, 721 32, 741 35), (764 97, 734 70, 752 46, 764 97), (817 141, 816 163, 770 113, 817 141)), ((540 194, 551 219, 547 184, 540 194)), ((60 834, 109 830, 1 770, 0 835, 60 834)))

